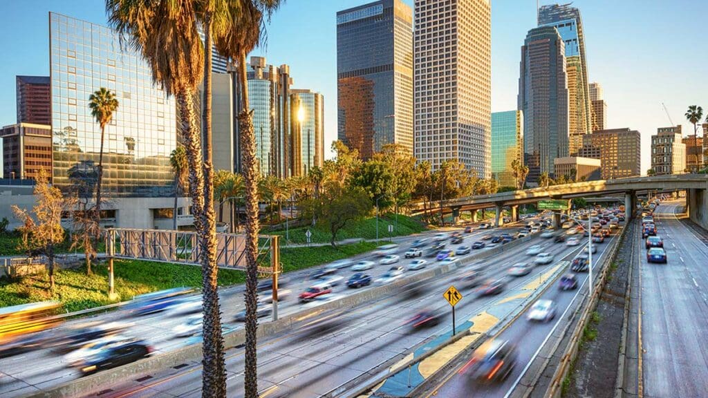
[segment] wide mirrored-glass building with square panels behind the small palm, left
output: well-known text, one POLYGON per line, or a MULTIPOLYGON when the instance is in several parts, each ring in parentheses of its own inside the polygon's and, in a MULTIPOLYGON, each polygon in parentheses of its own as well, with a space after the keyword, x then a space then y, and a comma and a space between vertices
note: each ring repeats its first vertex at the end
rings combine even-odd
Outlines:
POLYGON ((154 86, 151 69, 137 52, 121 48, 109 28, 50 13, 50 80, 56 186, 67 189, 72 175, 98 166, 101 127, 91 116, 89 96, 105 87, 120 104, 105 127, 105 195, 172 195, 175 103, 154 86))

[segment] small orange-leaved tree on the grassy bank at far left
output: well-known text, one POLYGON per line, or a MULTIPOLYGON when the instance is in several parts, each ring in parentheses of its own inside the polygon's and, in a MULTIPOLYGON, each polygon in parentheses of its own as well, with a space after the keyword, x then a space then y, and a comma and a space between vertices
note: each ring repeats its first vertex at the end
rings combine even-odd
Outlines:
POLYGON ((47 257, 50 290, 54 290, 55 246, 64 241, 62 212, 74 206, 72 200, 64 198, 59 188, 50 186, 44 169, 40 169, 36 181, 34 195, 37 197, 37 205, 32 210, 34 217, 16 205, 12 206, 12 211, 23 224, 18 228, 22 233, 21 249, 29 255, 47 257))

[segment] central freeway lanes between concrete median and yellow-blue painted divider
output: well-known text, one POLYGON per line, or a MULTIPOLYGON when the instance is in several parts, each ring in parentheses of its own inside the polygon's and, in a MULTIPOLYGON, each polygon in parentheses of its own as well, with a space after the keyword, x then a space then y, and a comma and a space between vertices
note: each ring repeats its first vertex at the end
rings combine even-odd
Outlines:
MULTIPOLYGON (((608 239, 609 240, 609 239, 608 239)), ((451 327, 450 306, 442 292, 455 284, 465 297, 457 305, 457 319, 473 319, 492 302, 524 293, 527 286, 540 286, 556 266, 537 266, 520 278, 506 277, 508 267, 530 261, 524 251, 530 244, 542 244, 556 261, 569 260, 582 246, 554 244, 539 238, 520 244, 487 261, 475 261, 457 272, 429 280, 423 292, 413 297, 401 294, 387 297, 343 312, 327 312, 258 345, 258 385, 261 397, 333 396, 333 390, 353 380, 365 381, 382 368, 394 368, 413 356, 413 351, 444 335, 451 327), (477 297, 474 288, 463 285, 461 273, 476 268, 487 278, 508 278, 501 295, 477 297), (538 281, 538 282, 537 282, 538 281), (407 321, 414 314, 430 310, 440 315, 440 324, 413 329, 407 321), (363 377, 363 380, 362 380, 363 377)), ((243 392, 244 350, 227 351, 229 397, 243 392)), ((103 386, 101 397, 198 397, 201 392, 201 367, 188 365, 161 373, 144 375, 122 385, 103 386)))

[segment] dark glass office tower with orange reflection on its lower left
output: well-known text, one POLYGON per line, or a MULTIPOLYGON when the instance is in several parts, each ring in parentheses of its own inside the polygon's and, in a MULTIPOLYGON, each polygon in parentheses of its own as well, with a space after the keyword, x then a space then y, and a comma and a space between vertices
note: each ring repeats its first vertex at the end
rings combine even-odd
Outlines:
POLYGON ((337 13, 337 136, 363 159, 385 144, 413 152, 412 22, 401 0, 337 13))

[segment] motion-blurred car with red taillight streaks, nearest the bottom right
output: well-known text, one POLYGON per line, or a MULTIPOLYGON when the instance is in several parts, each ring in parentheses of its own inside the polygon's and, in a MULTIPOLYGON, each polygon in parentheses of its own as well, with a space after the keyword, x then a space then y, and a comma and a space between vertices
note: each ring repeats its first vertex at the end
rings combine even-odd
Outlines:
POLYGON ((472 359, 459 373, 467 373, 470 368, 477 382, 487 384, 505 380, 516 364, 516 346, 510 341, 491 339, 474 351, 472 359))

